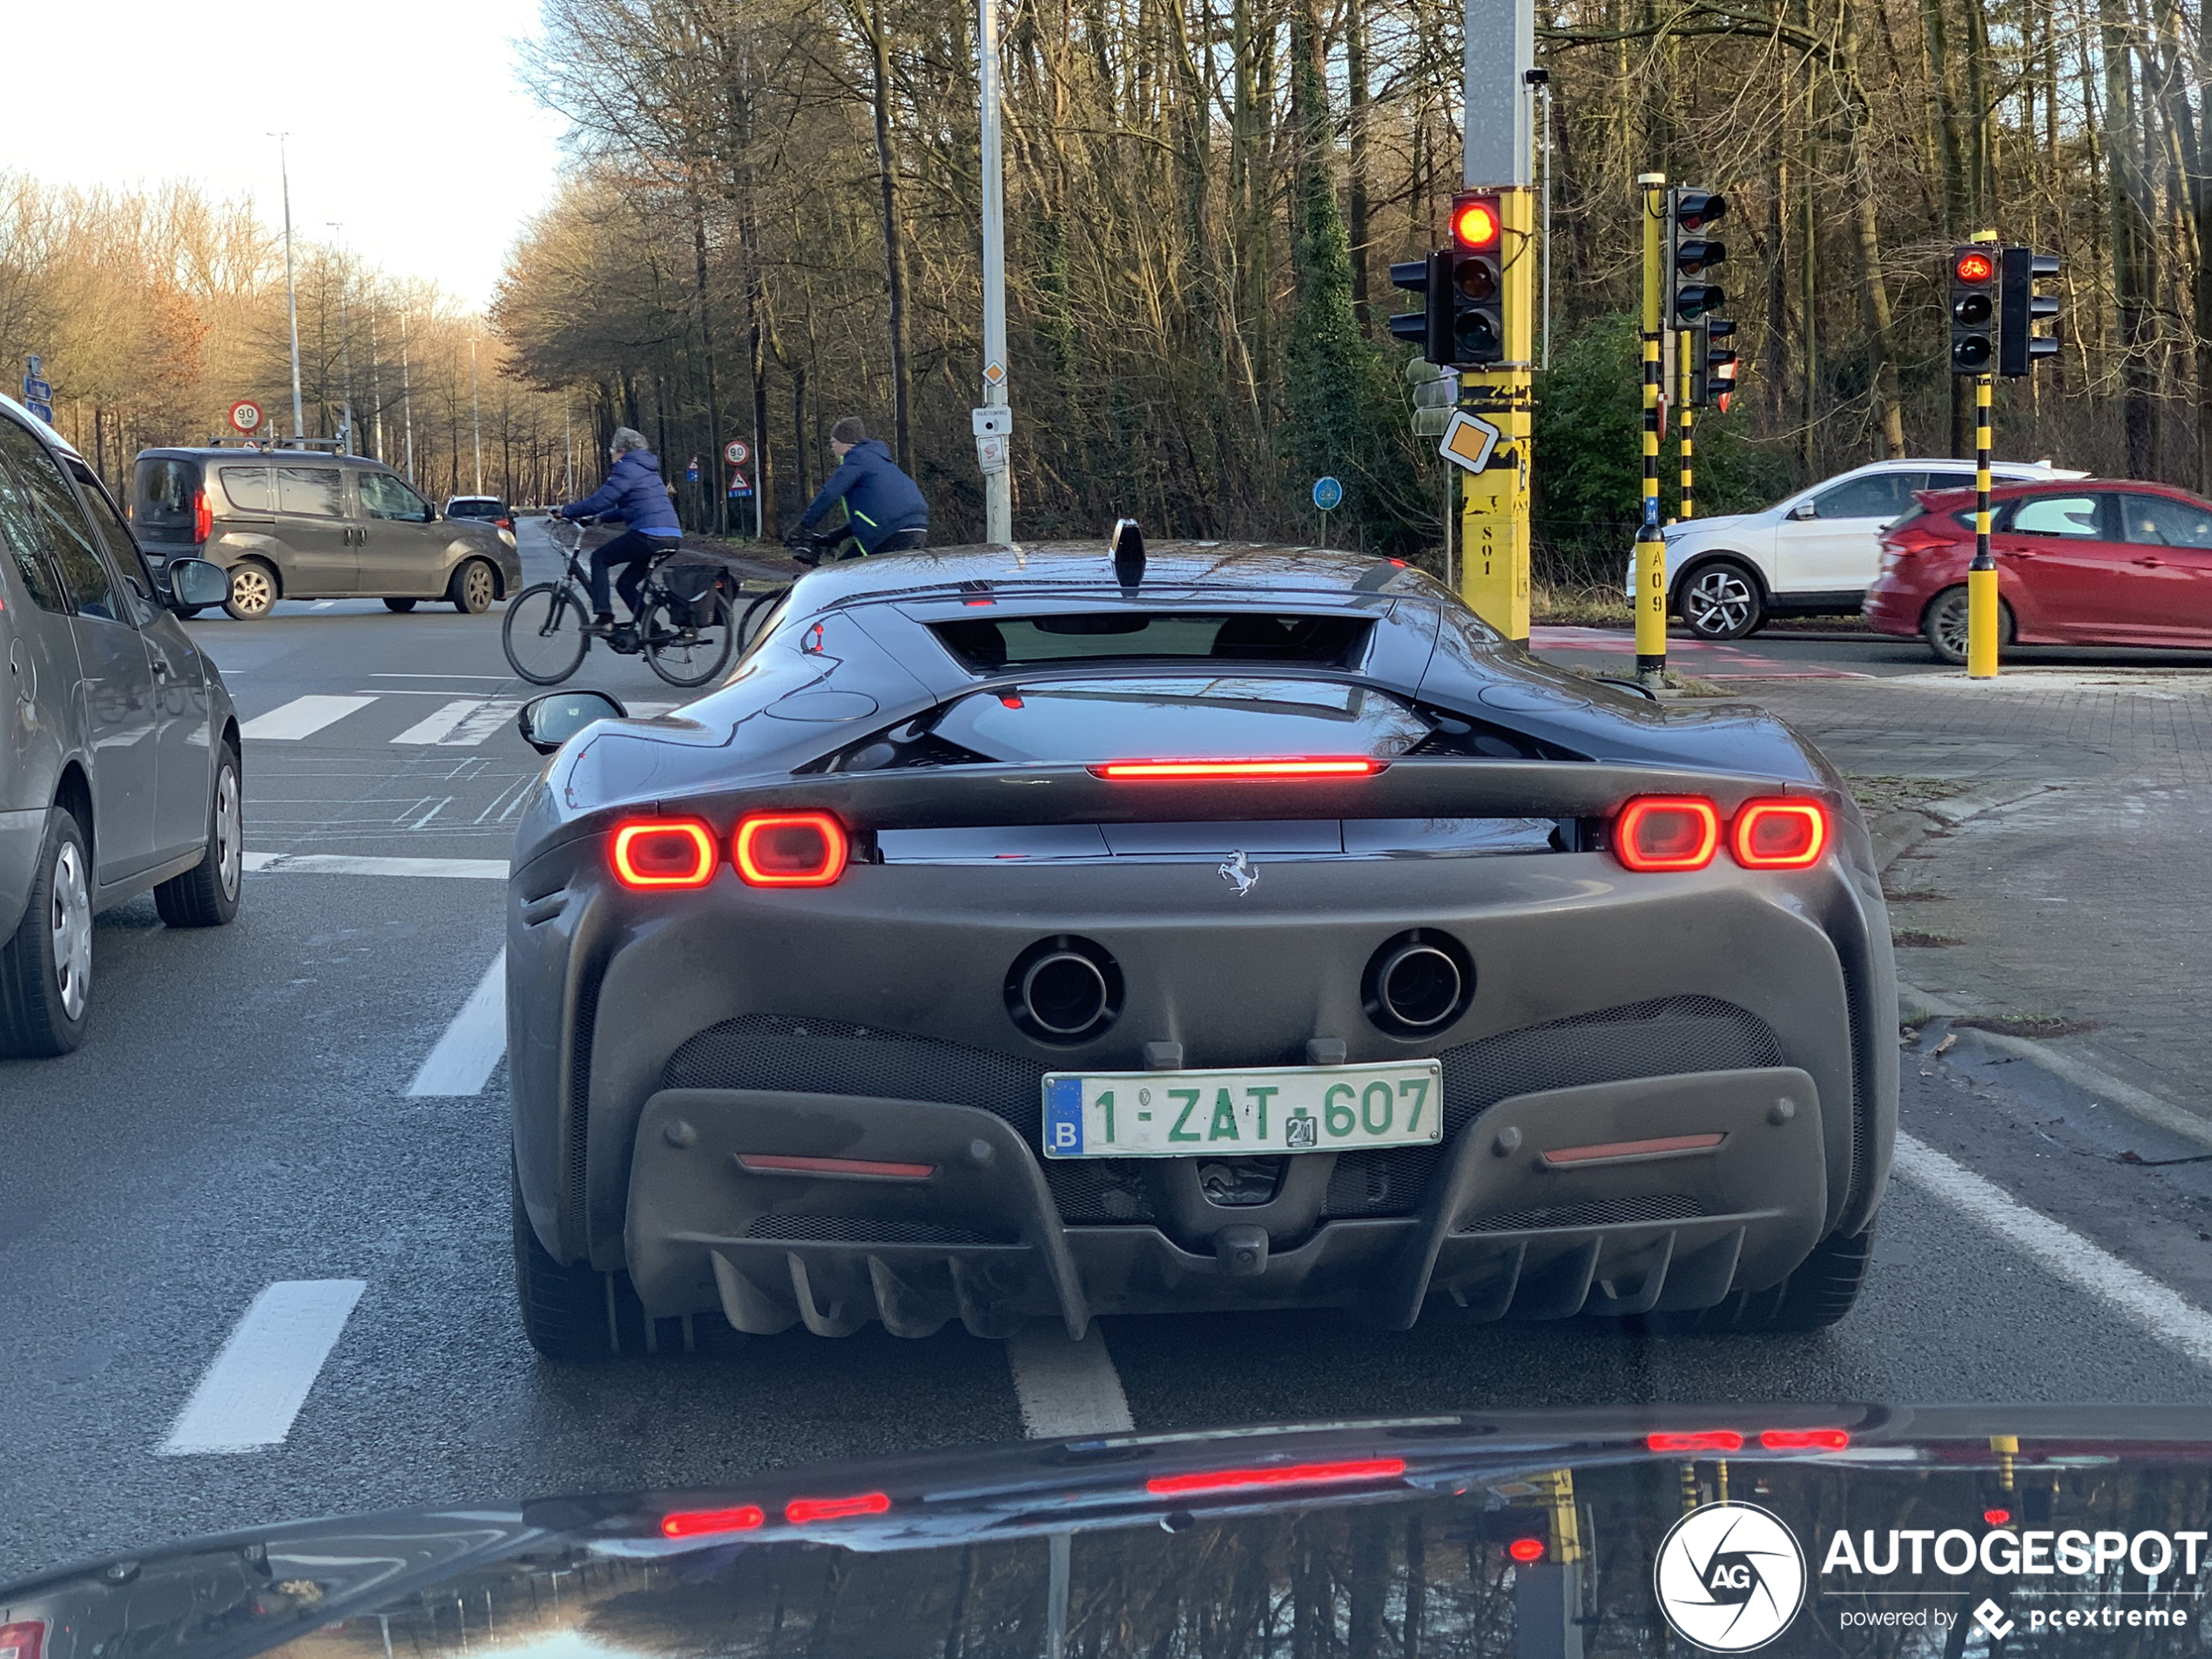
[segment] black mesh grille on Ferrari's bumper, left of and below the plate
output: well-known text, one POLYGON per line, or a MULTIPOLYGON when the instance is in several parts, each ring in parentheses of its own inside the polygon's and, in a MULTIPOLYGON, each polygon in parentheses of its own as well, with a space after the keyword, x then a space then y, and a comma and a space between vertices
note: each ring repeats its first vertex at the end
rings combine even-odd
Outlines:
MULTIPOLYGON (((661 1088, 787 1088, 980 1106, 1037 1148, 1044 1073, 1035 1060, 909 1037, 838 1020, 748 1013, 708 1026, 668 1057, 661 1088)), ((1048 1159, 1044 1183, 1064 1221, 1150 1221, 1126 1159, 1048 1159)))

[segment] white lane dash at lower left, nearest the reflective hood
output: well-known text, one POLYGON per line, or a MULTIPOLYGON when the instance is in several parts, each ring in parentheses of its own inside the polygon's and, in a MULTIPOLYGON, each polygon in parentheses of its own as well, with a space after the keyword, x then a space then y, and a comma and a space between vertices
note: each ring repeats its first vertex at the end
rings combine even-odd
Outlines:
POLYGON ((157 1453, 181 1458, 283 1444, 363 1290, 361 1279, 263 1285, 157 1453))

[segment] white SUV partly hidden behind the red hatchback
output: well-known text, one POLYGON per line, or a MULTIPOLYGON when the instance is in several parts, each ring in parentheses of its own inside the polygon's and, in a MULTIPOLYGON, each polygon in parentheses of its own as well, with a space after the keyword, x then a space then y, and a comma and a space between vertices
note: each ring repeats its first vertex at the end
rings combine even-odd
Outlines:
MULTIPOLYGON (((1993 482, 2086 478, 2048 460, 1993 460, 1993 482)), ((1973 489, 1971 460, 1878 460, 1759 513, 1668 524, 1670 608, 1699 639, 1741 639, 1767 617, 1858 615, 1882 562, 1882 526, 1916 489, 1973 489)), ((1635 602, 1635 560, 1628 566, 1635 602)))

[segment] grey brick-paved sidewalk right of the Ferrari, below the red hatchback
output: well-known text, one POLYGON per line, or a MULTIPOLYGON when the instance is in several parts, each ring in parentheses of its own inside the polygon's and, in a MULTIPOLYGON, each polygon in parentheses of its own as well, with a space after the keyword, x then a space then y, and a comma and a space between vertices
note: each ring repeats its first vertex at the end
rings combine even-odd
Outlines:
POLYGON ((1889 869, 1898 978, 2212 1124, 2212 672, 1745 681, 1860 779, 1991 792, 1889 869), (2020 796, 2020 799, 2011 799, 2020 796))

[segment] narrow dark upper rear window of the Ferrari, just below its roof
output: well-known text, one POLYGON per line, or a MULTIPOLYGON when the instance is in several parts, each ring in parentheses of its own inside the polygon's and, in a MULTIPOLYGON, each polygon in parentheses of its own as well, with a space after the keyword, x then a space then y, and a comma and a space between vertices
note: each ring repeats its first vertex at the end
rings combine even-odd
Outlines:
POLYGON ((1201 611, 1079 611, 1044 617, 960 617, 938 622, 940 641, 969 668, 1197 657, 1210 661, 1294 661, 1343 668, 1360 655, 1371 617, 1201 611))

